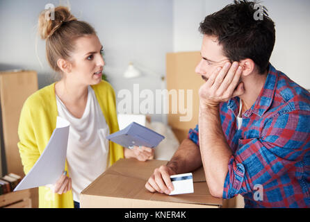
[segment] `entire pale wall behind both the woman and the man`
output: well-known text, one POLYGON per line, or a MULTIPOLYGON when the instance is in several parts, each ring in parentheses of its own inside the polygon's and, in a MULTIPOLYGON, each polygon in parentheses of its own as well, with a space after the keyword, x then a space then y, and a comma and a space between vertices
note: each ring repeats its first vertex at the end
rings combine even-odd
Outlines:
MULTIPOLYGON (((66 3, 67 1, 63 1, 66 3)), ((115 88, 133 91, 133 83, 142 89, 161 89, 165 74, 165 53, 199 51, 202 35, 199 23, 206 15, 218 11, 232 0, 71 0, 73 14, 92 24, 105 50, 105 72, 115 88), (124 79, 128 63, 144 68, 144 76, 124 79)), ((35 69, 39 86, 54 81, 45 58, 44 41, 35 37, 38 15, 47 3, 59 1, 0 0, 0 70, 35 69)), ((276 23, 277 40, 271 62, 297 83, 310 89, 309 60, 310 1, 263 1, 276 23)), ((119 100, 117 100, 119 101, 119 100)), ((156 105, 156 104, 155 104, 156 105)), ((161 120, 160 115, 154 119, 161 120)))

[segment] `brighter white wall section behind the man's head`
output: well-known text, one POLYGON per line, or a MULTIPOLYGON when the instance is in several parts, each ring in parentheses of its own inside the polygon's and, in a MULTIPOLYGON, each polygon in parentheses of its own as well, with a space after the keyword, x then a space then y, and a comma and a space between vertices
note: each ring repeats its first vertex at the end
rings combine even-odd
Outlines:
MULTIPOLYGON (((174 0, 174 52, 200 51, 199 22, 232 2, 174 0)), ((276 44, 270 62, 302 87, 310 89, 310 69, 307 67, 310 60, 310 1, 268 0, 261 4, 268 8, 268 14, 276 24, 276 44)))

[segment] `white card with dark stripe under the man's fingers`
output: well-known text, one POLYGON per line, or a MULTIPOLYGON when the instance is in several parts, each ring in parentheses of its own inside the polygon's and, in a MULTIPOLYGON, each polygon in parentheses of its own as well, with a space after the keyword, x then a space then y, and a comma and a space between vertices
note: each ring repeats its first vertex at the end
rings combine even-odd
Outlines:
POLYGON ((194 192, 193 174, 183 173, 170 176, 174 190, 169 195, 191 194, 194 192))

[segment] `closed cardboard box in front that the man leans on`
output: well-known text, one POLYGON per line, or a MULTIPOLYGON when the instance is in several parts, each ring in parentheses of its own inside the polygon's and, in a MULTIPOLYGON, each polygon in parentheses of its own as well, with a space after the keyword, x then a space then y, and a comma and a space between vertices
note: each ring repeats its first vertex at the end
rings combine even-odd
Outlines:
POLYGON ((80 196, 80 205, 85 208, 201 208, 221 207, 222 199, 211 196, 202 168, 193 172, 194 193, 168 196, 151 193, 145 183, 154 169, 167 161, 136 159, 118 160, 94 182, 86 187, 80 196))

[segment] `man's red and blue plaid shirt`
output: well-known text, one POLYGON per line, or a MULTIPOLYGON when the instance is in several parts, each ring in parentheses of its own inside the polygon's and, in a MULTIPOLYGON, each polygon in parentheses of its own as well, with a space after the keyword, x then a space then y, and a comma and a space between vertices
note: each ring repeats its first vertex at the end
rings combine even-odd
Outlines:
MULTIPOLYGON (((233 155, 223 198, 245 207, 310 207, 310 93, 269 66, 266 83, 237 128, 239 98, 220 104, 233 155)), ((188 138, 199 146, 198 126, 188 138)))

